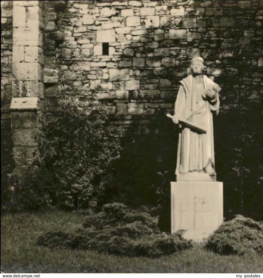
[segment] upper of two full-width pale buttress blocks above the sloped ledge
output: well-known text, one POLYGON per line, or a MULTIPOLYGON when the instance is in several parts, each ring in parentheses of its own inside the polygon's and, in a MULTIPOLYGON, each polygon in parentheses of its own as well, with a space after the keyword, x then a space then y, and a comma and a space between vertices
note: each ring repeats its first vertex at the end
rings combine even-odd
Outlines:
POLYGON ((38 26, 18 27, 13 29, 13 46, 38 46, 39 38, 38 26))

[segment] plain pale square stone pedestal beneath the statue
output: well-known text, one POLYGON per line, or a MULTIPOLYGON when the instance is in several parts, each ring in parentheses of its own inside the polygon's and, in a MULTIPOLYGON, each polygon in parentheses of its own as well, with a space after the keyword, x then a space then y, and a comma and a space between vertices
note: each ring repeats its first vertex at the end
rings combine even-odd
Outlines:
POLYGON ((201 242, 223 223, 223 183, 171 182, 171 233, 201 242))

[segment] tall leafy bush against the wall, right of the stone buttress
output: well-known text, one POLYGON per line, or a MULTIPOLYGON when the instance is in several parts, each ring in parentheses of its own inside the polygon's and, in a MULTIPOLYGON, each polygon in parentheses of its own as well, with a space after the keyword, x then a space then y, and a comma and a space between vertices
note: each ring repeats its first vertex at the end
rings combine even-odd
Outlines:
POLYGON ((89 101, 79 109, 64 102, 60 107, 40 141, 42 162, 56 190, 52 201, 66 209, 86 208, 89 200, 101 200, 101 175, 119 158, 118 130, 107 125, 106 111, 98 103, 89 101))

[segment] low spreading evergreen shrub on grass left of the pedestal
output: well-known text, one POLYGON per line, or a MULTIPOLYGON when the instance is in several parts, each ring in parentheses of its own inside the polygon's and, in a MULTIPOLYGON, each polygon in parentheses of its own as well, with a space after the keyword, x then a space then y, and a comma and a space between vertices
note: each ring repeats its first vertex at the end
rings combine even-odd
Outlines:
POLYGON ((64 246, 153 258, 192 247, 192 241, 183 239, 180 232, 170 236, 161 234, 156 222, 147 213, 130 212, 122 203, 106 204, 102 212, 87 217, 83 228, 48 232, 37 243, 50 248, 64 246))

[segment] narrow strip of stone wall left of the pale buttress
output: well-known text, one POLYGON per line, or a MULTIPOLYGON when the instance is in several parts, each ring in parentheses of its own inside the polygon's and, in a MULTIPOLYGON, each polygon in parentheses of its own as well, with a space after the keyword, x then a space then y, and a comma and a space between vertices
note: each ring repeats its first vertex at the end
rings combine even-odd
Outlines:
POLYGON ((1 165, 12 172, 12 1, 1 1, 1 165))

